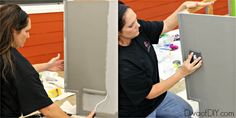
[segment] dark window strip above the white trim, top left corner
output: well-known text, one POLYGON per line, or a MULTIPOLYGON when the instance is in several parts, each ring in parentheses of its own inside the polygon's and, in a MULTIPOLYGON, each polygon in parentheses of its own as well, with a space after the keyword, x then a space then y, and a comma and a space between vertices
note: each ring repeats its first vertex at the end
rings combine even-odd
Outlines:
POLYGON ((63 0, 0 0, 0 4, 16 3, 16 4, 32 4, 32 3, 61 3, 63 0))

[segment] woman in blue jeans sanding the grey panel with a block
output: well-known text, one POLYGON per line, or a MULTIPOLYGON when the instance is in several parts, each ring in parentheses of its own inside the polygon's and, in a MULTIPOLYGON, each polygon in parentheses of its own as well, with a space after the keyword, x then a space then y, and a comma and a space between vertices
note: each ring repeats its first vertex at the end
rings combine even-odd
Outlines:
POLYGON ((193 73, 201 58, 190 63, 192 54, 182 67, 167 80, 160 82, 158 62, 152 44, 159 36, 177 26, 177 13, 188 8, 213 3, 184 2, 164 21, 137 20, 135 12, 119 3, 119 117, 188 118, 192 108, 180 97, 167 92, 181 78, 193 73), (187 111, 187 115, 185 114, 187 111))

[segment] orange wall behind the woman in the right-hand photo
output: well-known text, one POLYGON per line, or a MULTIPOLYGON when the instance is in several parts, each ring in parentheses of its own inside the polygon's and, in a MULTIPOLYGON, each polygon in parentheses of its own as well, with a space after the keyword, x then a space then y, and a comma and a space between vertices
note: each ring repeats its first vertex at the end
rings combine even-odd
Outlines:
MULTIPOLYGON (((138 18, 145 20, 164 20, 186 0, 122 0, 130 6, 138 18)), ((195 0, 200 1, 200 0, 195 0)), ((201 10, 199 13, 205 13, 201 10)), ((214 14, 228 14, 228 0, 217 0, 214 4, 214 14)))

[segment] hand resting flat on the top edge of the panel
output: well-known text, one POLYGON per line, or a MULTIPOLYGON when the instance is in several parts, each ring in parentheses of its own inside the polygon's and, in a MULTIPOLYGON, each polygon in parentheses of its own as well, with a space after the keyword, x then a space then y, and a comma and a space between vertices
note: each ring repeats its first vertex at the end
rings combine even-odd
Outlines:
POLYGON ((182 4, 183 12, 188 12, 188 13, 197 12, 202 8, 213 5, 216 0, 210 0, 210 1, 211 2, 186 1, 182 4))

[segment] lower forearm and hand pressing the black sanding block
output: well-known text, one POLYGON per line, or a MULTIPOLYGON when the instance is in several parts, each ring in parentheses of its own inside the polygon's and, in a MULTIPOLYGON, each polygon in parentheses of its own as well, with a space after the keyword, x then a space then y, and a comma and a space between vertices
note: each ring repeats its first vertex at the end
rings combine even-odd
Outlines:
POLYGON ((192 56, 193 53, 188 56, 186 61, 184 61, 183 66, 170 78, 163 80, 160 83, 154 84, 146 98, 153 99, 158 97, 174 86, 179 80, 196 71, 202 65, 202 60, 199 57, 190 63, 192 56))

